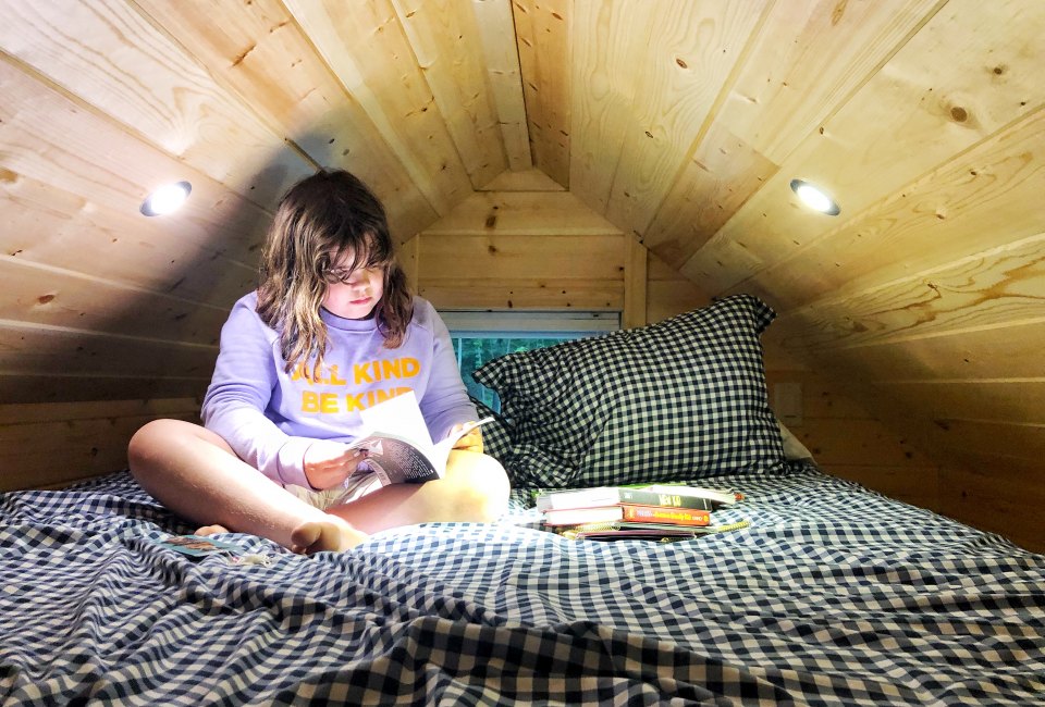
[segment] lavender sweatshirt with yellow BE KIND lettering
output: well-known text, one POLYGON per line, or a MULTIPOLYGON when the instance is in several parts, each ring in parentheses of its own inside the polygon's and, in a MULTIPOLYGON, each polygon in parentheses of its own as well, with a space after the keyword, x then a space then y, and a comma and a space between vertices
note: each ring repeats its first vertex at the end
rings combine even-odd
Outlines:
POLYGON ((308 487, 304 459, 314 439, 355 439, 361 409, 407 390, 437 442, 455 423, 477 419, 450 333, 427 300, 414 298, 414 319, 396 349, 384 348, 374 320, 321 310, 330 345, 315 381, 300 367, 284 371, 279 335, 258 317, 257 300, 256 293, 241 298, 222 326, 202 419, 273 481, 308 487))

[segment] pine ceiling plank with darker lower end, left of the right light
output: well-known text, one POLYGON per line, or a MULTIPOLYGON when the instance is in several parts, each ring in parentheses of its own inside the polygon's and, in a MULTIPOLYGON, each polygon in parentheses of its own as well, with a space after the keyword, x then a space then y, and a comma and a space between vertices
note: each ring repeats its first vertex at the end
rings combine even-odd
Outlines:
POLYGON ((736 84, 643 243, 681 266, 941 4, 772 4, 736 84))

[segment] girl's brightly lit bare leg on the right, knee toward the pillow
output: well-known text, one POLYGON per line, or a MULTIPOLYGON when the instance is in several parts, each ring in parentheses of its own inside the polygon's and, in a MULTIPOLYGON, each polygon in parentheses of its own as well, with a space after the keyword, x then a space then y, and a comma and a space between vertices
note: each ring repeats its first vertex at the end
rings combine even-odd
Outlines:
POLYGON ((366 533, 437 521, 487 522, 507 509, 508 491, 507 475, 493 457, 454 450, 443 479, 384 486, 327 512, 366 533))

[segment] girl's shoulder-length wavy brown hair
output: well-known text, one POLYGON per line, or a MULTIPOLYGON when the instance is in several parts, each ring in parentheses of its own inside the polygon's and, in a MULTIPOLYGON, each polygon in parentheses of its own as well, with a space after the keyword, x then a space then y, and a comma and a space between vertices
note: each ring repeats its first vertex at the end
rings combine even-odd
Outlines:
POLYGON ((261 257, 257 312, 280 333, 287 372, 308 362, 314 374, 320 370, 329 342, 320 308, 328 283, 337 281, 331 271, 345 253, 349 272, 384 271, 384 294, 373 315, 385 347, 403 344, 414 301, 395 260, 384 207, 352 173, 321 170, 280 200, 261 257))

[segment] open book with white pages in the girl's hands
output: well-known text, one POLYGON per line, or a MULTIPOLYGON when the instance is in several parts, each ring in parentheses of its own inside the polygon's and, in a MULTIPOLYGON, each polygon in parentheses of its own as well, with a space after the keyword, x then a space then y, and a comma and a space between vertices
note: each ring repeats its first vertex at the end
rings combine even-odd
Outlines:
POLYGON ((446 459, 457 441, 493 418, 466 425, 459 433, 437 443, 428 432, 414 392, 397 395, 361 413, 367 433, 349 445, 367 452, 356 473, 372 471, 382 486, 421 484, 446 471, 446 459))

